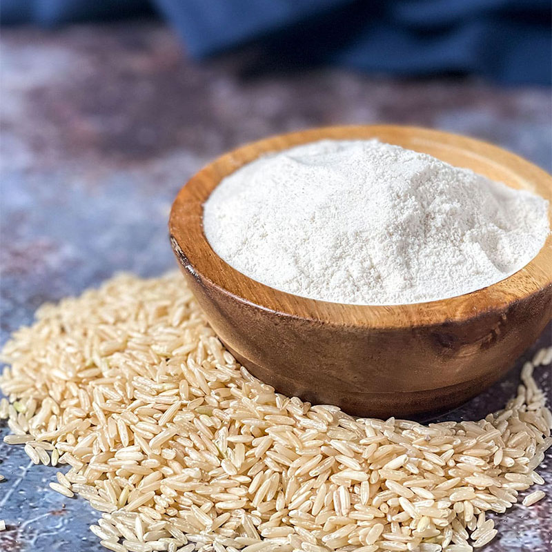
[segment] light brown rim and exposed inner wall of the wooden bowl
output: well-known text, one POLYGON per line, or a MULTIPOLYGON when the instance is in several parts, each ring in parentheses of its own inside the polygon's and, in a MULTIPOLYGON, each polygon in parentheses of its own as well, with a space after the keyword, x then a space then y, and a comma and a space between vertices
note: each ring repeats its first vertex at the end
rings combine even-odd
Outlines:
MULTIPOLYGON (((552 203, 551 175, 522 157, 484 141, 415 126, 311 128, 274 135, 240 146, 217 157, 188 180, 172 204, 168 225, 172 248, 181 266, 202 284, 246 306, 284 317, 352 328, 384 330, 454 324, 493 312, 503 313, 506 308, 530 295, 542 293, 543 290, 552 292, 552 270, 546 268, 552 267, 552 233, 529 264, 500 282, 448 299, 400 305, 342 304, 286 293, 239 273, 211 248, 203 230, 203 205, 221 179, 231 172, 260 155, 310 141, 370 138, 421 152, 437 150, 442 157, 460 155, 470 161, 468 168, 479 168, 476 172, 482 174, 485 174, 485 170, 497 171, 503 175, 500 180, 504 184, 531 190, 552 203)), ((442 158, 435 153, 431 155, 442 158)), ((550 206, 549 222, 552 226, 550 206)))

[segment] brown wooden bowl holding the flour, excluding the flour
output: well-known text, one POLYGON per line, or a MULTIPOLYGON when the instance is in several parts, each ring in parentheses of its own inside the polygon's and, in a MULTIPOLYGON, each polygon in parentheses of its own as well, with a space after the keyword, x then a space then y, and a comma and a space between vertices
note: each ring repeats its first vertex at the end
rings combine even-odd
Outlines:
POLYGON ((203 204, 222 178, 266 152, 319 139, 378 138, 552 200, 552 177, 513 153, 401 126, 315 128, 247 144, 188 181, 172 205, 182 272, 228 350, 280 393, 353 415, 428 416, 491 385, 552 317, 552 235, 527 266, 487 288, 420 304, 359 306, 275 290, 210 248, 203 204))

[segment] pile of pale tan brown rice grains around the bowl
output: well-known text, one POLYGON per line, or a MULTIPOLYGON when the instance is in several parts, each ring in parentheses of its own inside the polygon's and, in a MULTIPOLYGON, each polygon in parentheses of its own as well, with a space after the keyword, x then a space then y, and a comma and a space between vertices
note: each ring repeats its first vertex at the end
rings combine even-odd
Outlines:
MULTIPOLYGON (((552 444, 531 375, 479 422, 367 420, 285 397, 225 351, 180 275, 45 305, 3 350, 0 403, 50 486, 115 552, 468 552, 552 444)), ((535 491, 526 505, 544 496, 535 491)))

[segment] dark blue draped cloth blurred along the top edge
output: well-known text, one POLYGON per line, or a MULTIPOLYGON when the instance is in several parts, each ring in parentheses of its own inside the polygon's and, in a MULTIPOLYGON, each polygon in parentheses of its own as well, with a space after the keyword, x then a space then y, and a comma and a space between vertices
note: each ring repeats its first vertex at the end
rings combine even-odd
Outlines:
POLYGON ((550 0, 1 0, 0 18, 48 26, 151 7, 196 59, 255 42, 273 67, 552 83, 550 0))

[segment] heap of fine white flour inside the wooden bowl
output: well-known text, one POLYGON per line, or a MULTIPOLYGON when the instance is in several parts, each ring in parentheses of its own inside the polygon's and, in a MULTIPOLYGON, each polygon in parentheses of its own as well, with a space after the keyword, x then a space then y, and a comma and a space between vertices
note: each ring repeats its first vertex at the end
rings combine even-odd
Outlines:
POLYGON ((355 304, 454 297, 525 266, 548 201, 380 141, 319 141, 221 181, 204 230, 228 264, 295 295, 355 304))

